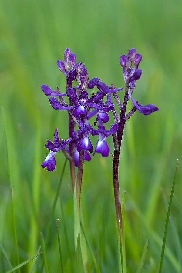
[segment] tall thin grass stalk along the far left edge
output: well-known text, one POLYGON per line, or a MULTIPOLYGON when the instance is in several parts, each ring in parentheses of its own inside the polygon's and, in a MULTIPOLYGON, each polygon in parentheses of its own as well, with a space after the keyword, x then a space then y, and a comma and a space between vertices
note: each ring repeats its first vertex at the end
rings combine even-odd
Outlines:
MULTIPOLYGON (((10 161, 9 161, 9 151, 8 151, 8 140, 7 140, 5 113, 4 113, 4 108, 3 107, 2 107, 2 116, 3 116, 4 134, 5 134, 5 147, 6 147, 6 155, 7 155, 7 163, 8 163, 8 178, 9 178, 11 200, 12 200, 12 219, 13 219, 13 232, 14 232, 14 240, 15 240, 15 248, 16 248, 16 261, 17 261, 17 264, 19 264, 19 251, 18 251, 18 240, 17 240, 17 233, 16 233, 16 219, 15 219, 15 207, 14 207, 14 199, 13 199, 12 177, 11 177, 10 161)), ((18 268, 18 272, 20 273, 19 268, 18 268)))

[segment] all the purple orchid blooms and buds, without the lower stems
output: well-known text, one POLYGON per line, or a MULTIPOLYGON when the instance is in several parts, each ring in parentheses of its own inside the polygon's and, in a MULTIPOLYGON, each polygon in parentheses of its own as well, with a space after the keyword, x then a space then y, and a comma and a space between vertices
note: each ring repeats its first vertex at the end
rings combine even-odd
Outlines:
MULTIPOLYGON (((115 89, 113 84, 108 87, 105 83, 101 82, 99 78, 93 78, 89 81, 88 72, 85 66, 79 62, 76 64, 76 55, 70 52, 69 48, 65 49, 64 62, 62 60, 57 61, 59 70, 66 76, 66 90, 65 93, 60 93, 59 88, 52 90, 46 84, 41 86, 42 91, 46 96, 49 96, 49 102, 51 106, 56 110, 67 110, 69 113, 69 139, 59 140, 57 129, 55 130, 54 143, 47 140, 48 144, 45 146, 50 150, 48 156, 42 164, 42 167, 47 167, 48 171, 55 169, 55 158, 54 155, 64 149, 68 143, 69 147, 66 148, 66 152, 69 153, 74 160, 76 167, 79 165, 79 154, 84 151, 84 160, 90 161, 91 157, 89 153, 93 152, 93 146, 90 141, 91 136, 99 136, 99 140, 96 143, 95 153, 101 153, 103 157, 109 155, 109 147, 106 143, 106 138, 110 135, 113 136, 115 149, 118 145, 116 138, 116 132, 119 130, 120 119, 114 108, 112 102, 112 97, 116 100, 120 110, 125 108, 127 101, 130 99, 134 87, 135 81, 140 79, 142 70, 138 69, 139 63, 142 56, 136 53, 136 49, 132 48, 129 50, 128 55, 122 55, 120 57, 120 64, 123 67, 123 77, 125 80, 125 101, 120 102, 118 91, 122 88, 115 89), (133 66, 134 64, 134 66, 133 66), (133 68, 132 68, 133 66, 133 68), (75 87, 72 83, 76 81, 75 87), (94 94, 89 93, 89 89, 93 89, 96 86, 98 89, 94 94), (69 103, 66 103, 66 99, 69 103), (103 99, 106 97, 106 102, 103 99), (108 112, 112 111, 115 123, 110 126, 110 129, 105 130, 103 123, 108 123, 109 115, 108 112), (96 120, 93 126, 89 124, 89 119, 92 116, 96 116, 96 120), (78 127, 75 130, 76 126, 78 127), (71 152, 72 150, 72 152, 71 152)), ((153 104, 148 104, 143 106, 138 104, 138 102, 131 98, 133 102, 133 108, 131 111, 124 116, 123 120, 126 121, 136 110, 144 115, 149 115, 150 113, 159 110, 153 104)), ((124 111, 125 112, 125 111, 124 111)))

